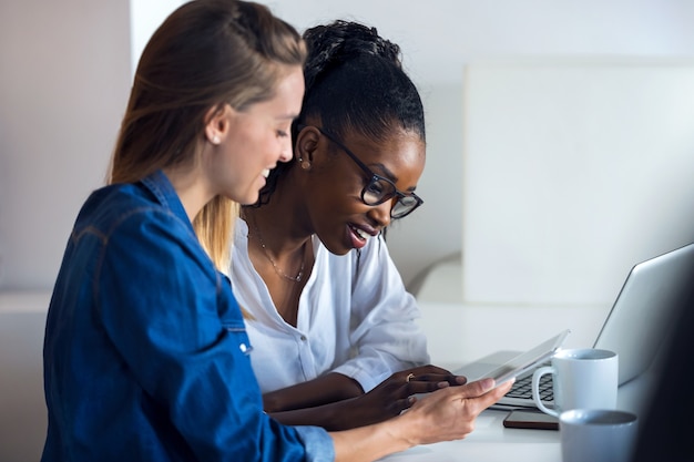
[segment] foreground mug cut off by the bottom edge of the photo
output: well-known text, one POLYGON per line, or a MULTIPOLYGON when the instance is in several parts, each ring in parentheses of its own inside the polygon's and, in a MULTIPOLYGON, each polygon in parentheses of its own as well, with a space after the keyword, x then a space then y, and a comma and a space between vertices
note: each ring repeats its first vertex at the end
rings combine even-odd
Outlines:
POLYGON ((637 419, 613 409, 573 409, 559 415, 562 462, 629 462, 637 419))

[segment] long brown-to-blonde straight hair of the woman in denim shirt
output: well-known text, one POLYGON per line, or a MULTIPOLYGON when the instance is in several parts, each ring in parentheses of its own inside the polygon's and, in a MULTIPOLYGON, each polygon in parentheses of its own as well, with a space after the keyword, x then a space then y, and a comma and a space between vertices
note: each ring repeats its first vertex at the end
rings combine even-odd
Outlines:
MULTIPOLYGON (((205 115, 238 111, 273 97, 286 66, 302 66, 298 32, 267 7, 241 0, 195 0, 154 32, 137 70, 108 182, 135 183, 157 170, 194 162, 205 115)), ((195 217, 197 237, 227 271, 238 206, 217 196, 195 217)))

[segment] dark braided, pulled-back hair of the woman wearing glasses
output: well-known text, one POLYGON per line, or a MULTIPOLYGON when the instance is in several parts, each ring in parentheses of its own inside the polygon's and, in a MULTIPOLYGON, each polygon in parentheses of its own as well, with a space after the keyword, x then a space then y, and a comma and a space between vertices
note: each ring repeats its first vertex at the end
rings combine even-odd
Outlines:
MULTIPOLYGON (((400 47, 381 38, 376 28, 337 20, 306 30, 304 66, 306 92, 293 127, 308 119, 343 137, 357 132, 375 142, 400 127, 425 136, 425 114, 417 88, 405 73, 400 47)), ((295 163, 280 163, 261 191, 267 203, 283 173, 295 163)))

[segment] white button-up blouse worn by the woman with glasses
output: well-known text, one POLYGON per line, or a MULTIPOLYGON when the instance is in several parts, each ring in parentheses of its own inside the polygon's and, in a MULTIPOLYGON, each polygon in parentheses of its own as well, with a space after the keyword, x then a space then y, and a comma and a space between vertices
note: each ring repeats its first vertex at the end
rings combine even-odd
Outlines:
POLYGON ((315 265, 299 297, 297 327, 277 312, 248 258, 248 226, 234 232, 231 279, 246 320, 251 361, 263 393, 339 372, 371 390, 391 373, 429 362, 416 324, 415 297, 405 290, 385 240, 369 238, 360 257, 338 256, 313 238, 315 265))

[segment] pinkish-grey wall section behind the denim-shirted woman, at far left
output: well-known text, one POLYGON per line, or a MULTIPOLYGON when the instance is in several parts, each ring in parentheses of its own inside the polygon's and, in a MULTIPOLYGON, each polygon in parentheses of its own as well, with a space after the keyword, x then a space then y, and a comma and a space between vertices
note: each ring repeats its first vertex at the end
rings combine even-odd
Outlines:
POLYGON ((130 86, 126 1, 0 1, 0 289, 53 284, 130 86))

